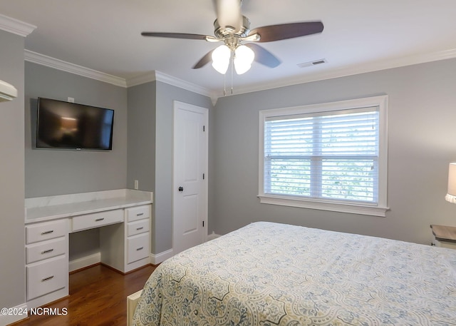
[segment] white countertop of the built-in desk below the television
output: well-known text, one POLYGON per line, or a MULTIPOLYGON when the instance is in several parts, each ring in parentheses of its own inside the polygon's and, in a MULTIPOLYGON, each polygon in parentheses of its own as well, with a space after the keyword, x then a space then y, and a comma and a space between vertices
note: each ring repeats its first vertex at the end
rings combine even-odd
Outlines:
POLYGON ((153 203, 152 198, 153 193, 130 189, 26 198, 25 223, 147 205, 153 203))

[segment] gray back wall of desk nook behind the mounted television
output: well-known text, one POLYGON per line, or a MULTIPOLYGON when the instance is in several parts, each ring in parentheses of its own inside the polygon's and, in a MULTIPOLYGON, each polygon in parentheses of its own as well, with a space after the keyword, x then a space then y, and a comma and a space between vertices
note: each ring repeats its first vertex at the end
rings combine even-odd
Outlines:
POLYGON ((36 63, 25 63, 26 198, 126 188, 127 89, 36 63), (39 97, 114 109, 112 151, 33 148, 39 97))

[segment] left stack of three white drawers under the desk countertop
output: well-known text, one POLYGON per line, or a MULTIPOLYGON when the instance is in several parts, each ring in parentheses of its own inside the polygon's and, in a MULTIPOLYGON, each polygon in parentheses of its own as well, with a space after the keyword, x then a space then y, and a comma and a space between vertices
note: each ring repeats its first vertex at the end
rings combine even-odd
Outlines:
POLYGON ((29 308, 68 295, 68 219, 26 225, 29 308))

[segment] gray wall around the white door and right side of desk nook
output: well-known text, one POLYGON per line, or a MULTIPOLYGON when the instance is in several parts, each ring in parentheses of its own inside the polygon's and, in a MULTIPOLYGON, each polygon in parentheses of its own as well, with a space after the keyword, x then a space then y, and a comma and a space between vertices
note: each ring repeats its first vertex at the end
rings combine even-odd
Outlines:
POLYGON ((133 188, 138 180, 140 190, 154 192, 151 251, 155 254, 172 248, 173 101, 212 108, 207 96, 160 81, 128 88, 127 185, 133 188))

